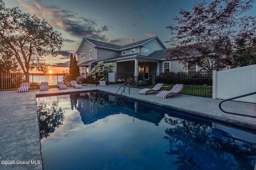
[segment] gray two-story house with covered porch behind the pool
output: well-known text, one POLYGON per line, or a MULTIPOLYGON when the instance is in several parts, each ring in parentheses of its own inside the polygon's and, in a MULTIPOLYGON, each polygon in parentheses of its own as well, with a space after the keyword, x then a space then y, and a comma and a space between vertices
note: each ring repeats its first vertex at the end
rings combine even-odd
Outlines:
POLYGON ((165 57, 168 54, 166 49, 158 36, 127 45, 115 45, 83 38, 76 50, 76 55, 80 73, 90 73, 99 61, 113 63, 113 71, 117 73, 143 74, 144 80, 149 79, 148 73, 186 72, 178 60, 166 61, 165 57))

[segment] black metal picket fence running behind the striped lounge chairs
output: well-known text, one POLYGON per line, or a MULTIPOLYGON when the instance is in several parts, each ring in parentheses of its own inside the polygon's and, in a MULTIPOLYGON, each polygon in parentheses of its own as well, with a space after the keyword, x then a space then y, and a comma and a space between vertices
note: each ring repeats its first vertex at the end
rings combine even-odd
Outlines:
MULTIPOLYGON (((78 84, 84 86, 98 86, 105 80, 107 86, 129 85, 134 88, 152 88, 157 83, 164 83, 165 90, 170 90, 174 84, 184 84, 182 94, 212 98, 212 78, 206 72, 168 72, 168 73, 112 73, 109 74, 81 74, 77 78, 78 84), (110 80, 111 81, 108 81, 110 80)), ((47 81, 50 88, 56 88, 58 81, 70 86, 69 74, 15 74, 1 73, 1 90, 16 90, 22 82, 30 82, 30 89, 40 88, 40 83, 47 81)))

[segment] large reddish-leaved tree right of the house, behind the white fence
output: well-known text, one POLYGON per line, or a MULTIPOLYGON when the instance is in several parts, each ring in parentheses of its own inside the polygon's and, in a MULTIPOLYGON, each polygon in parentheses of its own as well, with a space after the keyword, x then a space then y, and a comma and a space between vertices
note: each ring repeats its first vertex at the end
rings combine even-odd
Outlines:
POLYGON ((254 0, 213 0, 207 4, 204 0, 196 2, 191 12, 180 10, 180 17, 174 18, 178 25, 166 27, 173 35, 167 42, 176 46, 168 49, 167 58, 178 59, 185 68, 197 64, 209 73, 230 65, 232 47, 240 35, 236 29, 248 23, 241 16, 253 3, 254 0))

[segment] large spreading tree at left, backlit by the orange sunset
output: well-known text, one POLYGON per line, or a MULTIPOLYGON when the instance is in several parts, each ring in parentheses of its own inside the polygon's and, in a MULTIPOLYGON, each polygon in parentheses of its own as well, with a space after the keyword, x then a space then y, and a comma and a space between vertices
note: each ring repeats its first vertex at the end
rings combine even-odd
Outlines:
MULTIPOLYGON (((12 54, 24 74, 36 69, 46 72, 45 56, 57 56, 63 39, 46 20, 22 13, 18 7, 6 8, 0 0, 0 52, 12 54)), ((28 78, 28 76, 27 76, 28 78)))

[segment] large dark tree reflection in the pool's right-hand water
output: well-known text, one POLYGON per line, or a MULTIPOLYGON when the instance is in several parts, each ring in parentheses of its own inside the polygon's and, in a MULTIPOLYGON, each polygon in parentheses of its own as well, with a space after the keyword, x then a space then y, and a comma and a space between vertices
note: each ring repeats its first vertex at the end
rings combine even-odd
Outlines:
POLYGON ((165 130, 164 139, 170 144, 166 154, 177 156, 172 163, 178 169, 253 169, 253 145, 229 138, 228 134, 214 137, 211 127, 202 123, 176 117, 165 117, 164 121, 173 126, 165 130))

